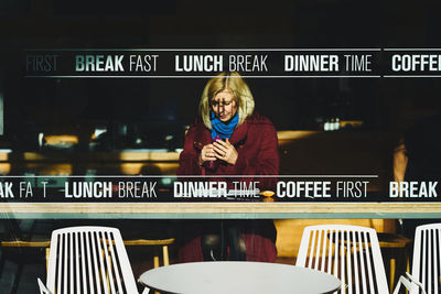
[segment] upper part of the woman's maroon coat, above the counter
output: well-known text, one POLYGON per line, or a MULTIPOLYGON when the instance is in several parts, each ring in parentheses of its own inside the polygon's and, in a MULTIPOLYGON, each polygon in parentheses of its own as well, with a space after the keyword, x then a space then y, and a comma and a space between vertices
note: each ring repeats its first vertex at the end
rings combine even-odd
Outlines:
MULTIPOLYGON (((186 133, 178 175, 277 175, 279 173, 277 132, 271 121, 263 116, 255 112, 233 132, 229 142, 238 153, 235 165, 217 160, 218 166, 215 171, 201 167, 198 165, 201 150, 212 142, 211 131, 197 120, 186 133)), ((261 190, 273 188, 277 182, 276 178, 258 176, 238 177, 233 181, 259 181, 261 190)))

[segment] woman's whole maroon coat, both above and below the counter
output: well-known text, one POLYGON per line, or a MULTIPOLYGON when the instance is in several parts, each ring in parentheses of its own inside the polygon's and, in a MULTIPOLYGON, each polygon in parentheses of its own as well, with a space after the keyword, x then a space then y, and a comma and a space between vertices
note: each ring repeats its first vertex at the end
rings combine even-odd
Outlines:
MULTIPOLYGON (((279 172, 279 153, 277 132, 270 120, 254 113, 233 133, 229 142, 238 152, 235 165, 218 161, 215 171, 198 165, 198 156, 204 145, 213 142, 211 131, 197 120, 187 131, 184 150, 180 155, 178 175, 257 175, 256 177, 216 178, 217 181, 259 181, 258 187, 272 189, 277 178, 258 177, 258 175, 277 175, 279 172)), ((200 220, 185 226, 182 233, 185 241, 179 250, 180 262, 202 261, 201 238, 197 231, 206 221, 200 220), (193 237, 192 237, 193 236, 193 237)), ((240 236, 245 241, 248 261, 275 262, 276 228, 272 220, 237 220, 240 236)), ((203 231, 204 229, 201 229, 203 231)))

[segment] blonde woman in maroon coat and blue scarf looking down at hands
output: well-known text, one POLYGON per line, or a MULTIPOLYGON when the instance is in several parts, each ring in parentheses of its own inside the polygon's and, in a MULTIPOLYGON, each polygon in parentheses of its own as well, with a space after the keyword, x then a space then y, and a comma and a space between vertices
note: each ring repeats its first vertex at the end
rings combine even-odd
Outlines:
MULTIPOLYGON (((201 98, 201 118, 186 133, 178 175, 216 175, 209 181, 225 181, 229 188, 237 188, 233 182, 243 187, 258 182, 260 190, 273 189, 277 179, 259 175, 278 174, 277 133, 273 124, 254 108, 251 91, 239 74, 222 73, 212 78, 201 98)), ((179 252, 182 262, 276 260, 271 220, 204 220, 196 228, 191 226, 185 235, 179 252)))

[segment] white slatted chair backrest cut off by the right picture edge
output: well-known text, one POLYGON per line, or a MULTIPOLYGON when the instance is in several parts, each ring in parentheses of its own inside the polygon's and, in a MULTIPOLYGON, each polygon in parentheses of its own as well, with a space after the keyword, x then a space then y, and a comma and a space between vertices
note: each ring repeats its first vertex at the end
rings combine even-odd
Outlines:
MULTIPOLYGON (((417 227, 413 242, 412 276, 428 294, 441 291, 441 224, 417 227)), ((411 294, 419 294, 415 288, 411 294)))

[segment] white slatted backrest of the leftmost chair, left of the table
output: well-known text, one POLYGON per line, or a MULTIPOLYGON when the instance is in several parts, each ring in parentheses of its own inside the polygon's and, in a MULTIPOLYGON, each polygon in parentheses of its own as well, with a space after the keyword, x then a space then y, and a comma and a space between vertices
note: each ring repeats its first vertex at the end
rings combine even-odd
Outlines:
POLYGON ((137 294, 119 230, 72 227, 53 231, 46 286, 56 294, 137 294))

